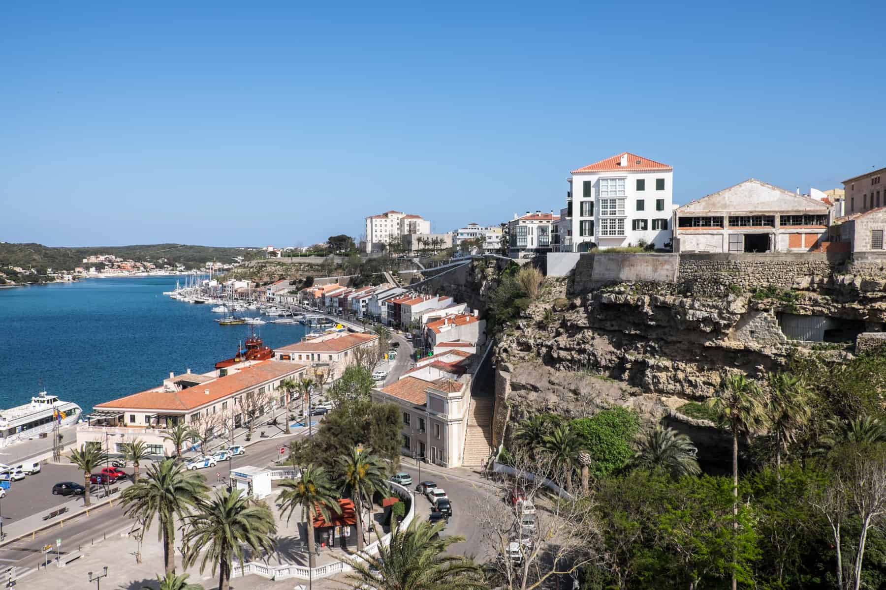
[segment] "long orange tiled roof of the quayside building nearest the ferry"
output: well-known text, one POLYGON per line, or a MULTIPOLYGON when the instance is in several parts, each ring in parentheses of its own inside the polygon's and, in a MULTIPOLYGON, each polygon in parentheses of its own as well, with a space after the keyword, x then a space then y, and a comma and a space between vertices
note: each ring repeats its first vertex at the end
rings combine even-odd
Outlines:
POLYGON ((187 411, 206 403, 215 402, 237 392, 258 386, 260 383, 280 379, 294 372, 304 371, 306 364, 262 361, 245 369, 220 377, 182 391, 164 391, 162 388, 149 389, 126 397, 96 404, 96 408, 127 410, 168 410, 187 411), (206 394, 206 390, 209 393, 206 394))

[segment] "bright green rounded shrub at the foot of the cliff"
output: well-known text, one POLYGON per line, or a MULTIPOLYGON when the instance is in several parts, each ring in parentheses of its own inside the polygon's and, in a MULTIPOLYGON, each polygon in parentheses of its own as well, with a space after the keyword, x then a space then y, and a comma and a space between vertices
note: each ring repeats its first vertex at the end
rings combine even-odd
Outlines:
POLYGON ((610 408, 591 418, 576 418, 570 427, 591 455, 591 472, 600 478, 618 471, 631 460, 640 418, 632 410, 610 408))

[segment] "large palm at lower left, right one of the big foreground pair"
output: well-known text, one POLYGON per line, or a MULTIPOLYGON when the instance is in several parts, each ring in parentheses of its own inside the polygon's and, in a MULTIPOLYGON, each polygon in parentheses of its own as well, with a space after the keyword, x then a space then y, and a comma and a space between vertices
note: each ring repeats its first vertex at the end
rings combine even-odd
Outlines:
POLYGON ((264 502, 251 502, 241 490, 216 492, 209 502, 198 504, 198 512, 186 517, 188 532, 183 543, 185 567, 197 563, 200 554, 200 573, 212 561, 219 570, 219 590, 229 590, 232 558, 244 563, 243 545, 253 553, 268 552, 274 548, 271 535, 276 533, 274 515, 264 502))

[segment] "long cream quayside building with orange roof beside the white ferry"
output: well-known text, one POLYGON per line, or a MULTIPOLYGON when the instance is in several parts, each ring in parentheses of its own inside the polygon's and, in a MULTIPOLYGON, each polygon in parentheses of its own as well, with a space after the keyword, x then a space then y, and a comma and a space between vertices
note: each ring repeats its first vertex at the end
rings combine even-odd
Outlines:
POLYGON ((77 444, 100 442, 105 448, 107 435, 105 450, 111 453, 121 452, 123 443, 144 441, 154 455, 170 456, 175 448, 163 438, 168 428, 202 423, 223 435, 229 427, 248 422, 253 403, 261 406, 258 415, 281 407, 285 392, 280 382, 300 379, 306 372, 307 363, 266 360, 229 367, 223 377, 215 372, 170 373, 158 387, 98 403, 87 423, 77 426, 77 444))

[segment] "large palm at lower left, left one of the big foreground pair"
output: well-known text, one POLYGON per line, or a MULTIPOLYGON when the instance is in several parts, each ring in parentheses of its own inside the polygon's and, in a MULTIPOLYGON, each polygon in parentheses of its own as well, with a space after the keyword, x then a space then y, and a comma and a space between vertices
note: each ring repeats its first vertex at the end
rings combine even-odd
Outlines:
POLYGON ((158 539, 163 540, 163 565, 175 571, 175 518, 183 520, 206 496, 206 479, 197 471, 187 471, 175 459, 152 464, 145 478, 121 494, 123 513, 144 520, 144 531, 159 518, 158 539))

